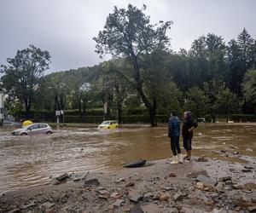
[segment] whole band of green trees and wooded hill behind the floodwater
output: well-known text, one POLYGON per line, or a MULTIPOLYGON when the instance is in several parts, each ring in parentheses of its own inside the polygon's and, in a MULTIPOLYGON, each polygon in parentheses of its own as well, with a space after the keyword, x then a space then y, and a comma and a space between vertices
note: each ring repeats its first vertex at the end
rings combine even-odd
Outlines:
POLYGON ((256 112, 256 41, 245 29, 227 45, 208 33, 189 50, 174 52, 166 36, 172 21, 152 25, 145 9, 114 8, 94 37, 96 52, 113 59, 96 66, 43 76, 49 53, 34 46, 19 50, 8 66, 1 66, 9 112, 19 112, 25 103, 27 112, 43 112, 43 118, 44 112, 62 109, 81 117, 103 115, 108 102, 107 118, 121 123, 125 115, 146 118, 148 113, 153 126, 156 114, 170 109, 190 110, 195 117, 210 114, 213 121, 217 114, 230 118, 239 110, 256 112))

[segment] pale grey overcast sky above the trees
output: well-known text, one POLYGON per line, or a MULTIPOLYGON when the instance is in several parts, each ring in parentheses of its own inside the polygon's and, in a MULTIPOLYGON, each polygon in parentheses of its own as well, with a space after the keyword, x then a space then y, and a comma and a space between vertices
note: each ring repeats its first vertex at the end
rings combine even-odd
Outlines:
POLYGON ((152 22, 172 20, 172 49, 189 49, 208 32, 228 42, 246 27, 256 38, 254 0, 0 0, 0 64, 34 44, 52 56, 48 72, 93 66, 101 60, 92 37, 113 6, 148 6, 152 22))

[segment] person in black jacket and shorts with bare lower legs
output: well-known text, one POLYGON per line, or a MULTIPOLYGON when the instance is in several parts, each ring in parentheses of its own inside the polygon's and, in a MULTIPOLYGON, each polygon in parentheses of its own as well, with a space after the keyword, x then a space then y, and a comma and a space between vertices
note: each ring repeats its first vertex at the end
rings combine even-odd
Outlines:
POLYGON ((183 121, 183 147, 187 152, 187 156, 184 158, 186 160, 191 159, 191 150, 192 150, 192 138, 193 130, 197 127, 197 124, 192 119, 192 112, 184 112, 184 121, 183 121))

